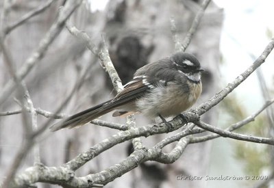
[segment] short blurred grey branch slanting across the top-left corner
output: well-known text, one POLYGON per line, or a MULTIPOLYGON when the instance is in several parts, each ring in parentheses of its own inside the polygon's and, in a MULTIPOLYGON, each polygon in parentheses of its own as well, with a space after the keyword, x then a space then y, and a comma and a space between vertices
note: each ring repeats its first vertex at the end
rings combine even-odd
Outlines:
POLYGON ((8 33, 10 33, 10 31, 15 29, 16 27, 23 25, 23 23, 28 21, 30 18, 44 12, 45 10, 47 10, 47 8, 49 8, 49 6, 53 3, 53 1, 56 1, 56 0, 49 0, 44 5, 40 5, 36 10, 32 10, 31 12, 28 12, 27 14, 22 16, 20 20, 16 21, 16 23, 12 23, 8 25, 7 27, 5 27, 5 29, 3 29, 3 33, 7 35, 8 33))

